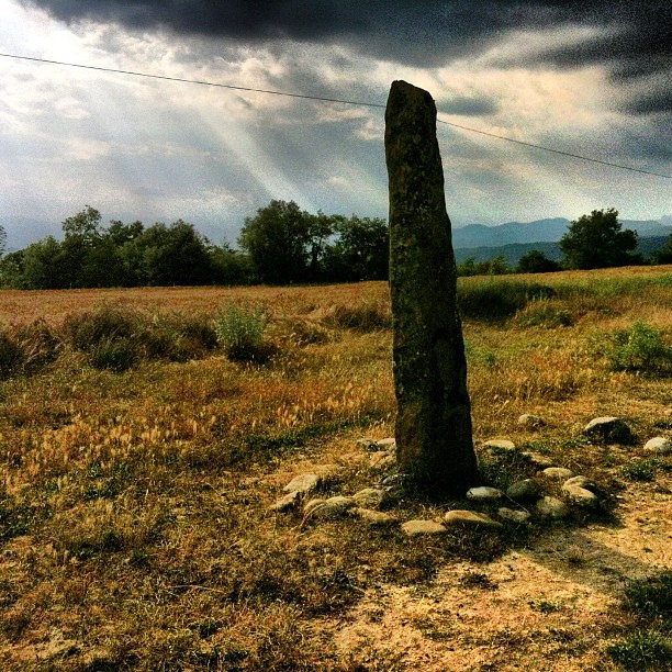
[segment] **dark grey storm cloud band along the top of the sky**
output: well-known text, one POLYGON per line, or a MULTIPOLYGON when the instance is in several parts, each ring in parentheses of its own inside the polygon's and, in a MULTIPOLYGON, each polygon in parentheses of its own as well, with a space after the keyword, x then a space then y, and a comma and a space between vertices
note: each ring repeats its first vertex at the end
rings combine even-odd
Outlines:
MULTIPOLYGON (((540 48, 534 63, 598 64, 615 81, 664 72, 672 56, 669 0, 24 0, 65 21, 240 41, 341 42, 378 58, 436 66, 477 56, 511 31, 590 26, 581 44, 540 48)), ((530 58, 530 57, 528 57, 530 58)), ((525 64, 530 65, 530 60, 525 64)), ((651 92, 651 100, 664 101, 651 92)), ((668 101, 669 102, 669 101, 668 101)), ((654 103, 658 104, 658 103, 654 103)), ((648 113, 630 104, 631 113, 648 113)), ((670 110, 669 105, 665 108, 670 110)))

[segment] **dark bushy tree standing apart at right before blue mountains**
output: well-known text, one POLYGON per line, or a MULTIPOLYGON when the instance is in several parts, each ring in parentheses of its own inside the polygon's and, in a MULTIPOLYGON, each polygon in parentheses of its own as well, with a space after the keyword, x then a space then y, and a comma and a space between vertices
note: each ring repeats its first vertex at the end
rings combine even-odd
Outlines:
POLYGON ((593 210, 574 220, 560 240, 563 265, 570 269, 609 268, 641 264, 630 254, 637 247, 637 233, 621 231, 618 211, 593 210))

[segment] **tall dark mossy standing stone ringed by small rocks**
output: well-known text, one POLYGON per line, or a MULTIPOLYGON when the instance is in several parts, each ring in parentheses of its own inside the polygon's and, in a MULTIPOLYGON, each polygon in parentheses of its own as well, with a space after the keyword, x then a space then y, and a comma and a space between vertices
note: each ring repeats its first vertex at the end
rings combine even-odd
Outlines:
POLYGON ((388 98, 385 159, 399 469, 462 493, 478 470, 436 105, 405 81, 388 98))

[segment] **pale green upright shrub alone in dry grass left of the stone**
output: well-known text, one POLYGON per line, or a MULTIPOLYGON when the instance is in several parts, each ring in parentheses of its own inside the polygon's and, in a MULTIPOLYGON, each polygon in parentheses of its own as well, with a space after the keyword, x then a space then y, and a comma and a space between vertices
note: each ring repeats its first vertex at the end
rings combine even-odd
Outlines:
POLYGON ((265 361, 269 347, 264 340, 268 317, 261 306, 231 303, 215 320, 214 331, 226 356, 239 361, 265 361))

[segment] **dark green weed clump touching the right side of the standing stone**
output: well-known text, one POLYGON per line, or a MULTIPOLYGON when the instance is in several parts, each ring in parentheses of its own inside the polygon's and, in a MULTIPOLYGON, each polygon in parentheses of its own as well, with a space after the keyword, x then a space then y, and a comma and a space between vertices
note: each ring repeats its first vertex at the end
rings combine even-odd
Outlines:
POLYGON ((530 301, 555 296, 552 287, 516 280, 461 282, 457 303, 462 317, 496 321, 512 317, 530 301))

